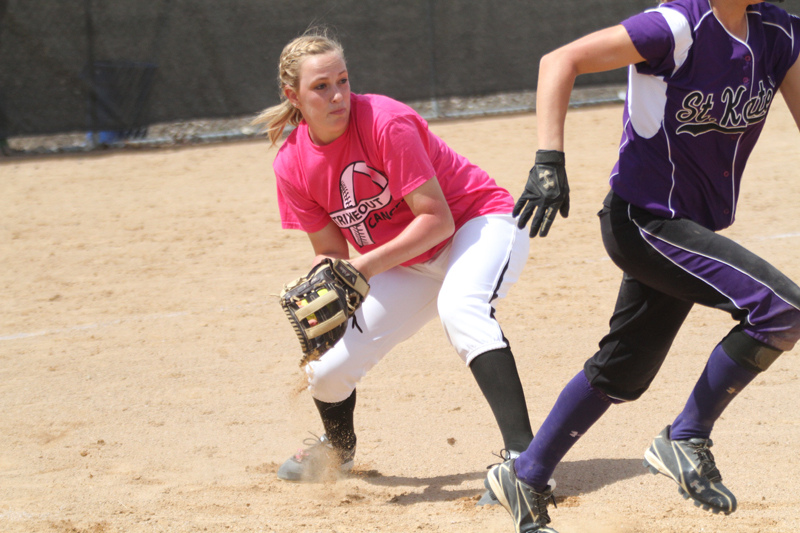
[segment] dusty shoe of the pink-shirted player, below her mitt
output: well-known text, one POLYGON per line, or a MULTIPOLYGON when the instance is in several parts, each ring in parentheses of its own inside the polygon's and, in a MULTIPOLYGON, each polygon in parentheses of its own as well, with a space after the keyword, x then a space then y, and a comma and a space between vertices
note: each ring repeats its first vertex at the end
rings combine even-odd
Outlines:
POLYGON ((303 444, 307 448, 298 450, 278 469, 278 479, 302 482, 333 480, 353 469, 355 448, 337 450, 325 435, 305 439, 303 444))

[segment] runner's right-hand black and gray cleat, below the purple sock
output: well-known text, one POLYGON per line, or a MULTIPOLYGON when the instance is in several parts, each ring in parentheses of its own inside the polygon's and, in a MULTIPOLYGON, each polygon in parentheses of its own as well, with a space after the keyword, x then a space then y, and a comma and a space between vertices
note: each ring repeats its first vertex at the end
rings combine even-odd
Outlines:
POLYGON ((664 474, 678 484, 686 498, 712 513, 731 514, 736 496, 722 484, 722 475, 709 448, 711 439, 670 440, 670 426, 653 439, 644 452, 644 466, 653 474, 664 474))

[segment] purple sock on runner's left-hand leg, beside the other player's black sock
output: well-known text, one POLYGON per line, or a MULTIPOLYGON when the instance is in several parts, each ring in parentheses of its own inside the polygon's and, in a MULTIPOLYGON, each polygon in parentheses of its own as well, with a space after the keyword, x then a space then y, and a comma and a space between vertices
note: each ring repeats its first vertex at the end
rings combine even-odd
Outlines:
POLYGON ((517 477, 537 492, 572 445, 597 422, 611 400, 589 384, 583 370, 567 383, 528 449, 517 458, 517 477))

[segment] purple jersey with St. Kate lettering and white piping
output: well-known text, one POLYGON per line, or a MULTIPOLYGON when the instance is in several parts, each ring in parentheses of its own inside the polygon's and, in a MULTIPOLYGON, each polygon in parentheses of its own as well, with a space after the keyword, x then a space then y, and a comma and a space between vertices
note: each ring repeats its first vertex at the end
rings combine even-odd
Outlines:
POLYGON ((645 62, 629 67, 611 187, 667 218, 733 223, 739 183, 772 99, 800 52, 800 19, 748 8, 747 40, 708 0, 673 0, 622 22, 645 62))

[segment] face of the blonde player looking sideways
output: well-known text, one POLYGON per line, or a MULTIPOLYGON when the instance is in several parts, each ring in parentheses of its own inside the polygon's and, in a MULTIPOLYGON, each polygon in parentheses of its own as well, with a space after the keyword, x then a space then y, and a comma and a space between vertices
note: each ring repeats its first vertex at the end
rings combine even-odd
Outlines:
POLYGON ((331 143, 347 130, 350 80, 344 59, 336 52, 305 58, 298 89, 287 89, 286 96, 303 113, 315 144, 331 143))

